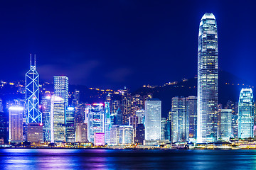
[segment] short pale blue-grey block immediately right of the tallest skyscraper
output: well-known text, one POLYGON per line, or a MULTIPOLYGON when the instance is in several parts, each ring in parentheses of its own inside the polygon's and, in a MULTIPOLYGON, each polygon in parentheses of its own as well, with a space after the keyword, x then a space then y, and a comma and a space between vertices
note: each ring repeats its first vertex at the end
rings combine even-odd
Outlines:
POLYGON ((218 128, 218 137, 220 140, 229 141, 230 137, 232 137, 231 123, 232 109, 221 109, 218 128))

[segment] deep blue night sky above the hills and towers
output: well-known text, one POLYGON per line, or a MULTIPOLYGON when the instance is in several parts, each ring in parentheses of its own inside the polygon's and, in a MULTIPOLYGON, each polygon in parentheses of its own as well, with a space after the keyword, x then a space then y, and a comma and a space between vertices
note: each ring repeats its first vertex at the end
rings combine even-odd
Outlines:
POLYGON ((198 28, 218 24, 219 67, 256 84, 254 1, 1 1, 0 79, 137 89, 197 74, 198 28))

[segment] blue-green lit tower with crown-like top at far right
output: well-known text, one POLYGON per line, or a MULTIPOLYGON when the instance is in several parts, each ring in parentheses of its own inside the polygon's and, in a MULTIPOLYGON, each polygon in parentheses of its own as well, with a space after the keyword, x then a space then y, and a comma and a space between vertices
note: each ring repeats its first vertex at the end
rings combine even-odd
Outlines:
POLYGON ((238 138, 254 137, 254 110, 252 89, 242 89, 238 103, 238 138))

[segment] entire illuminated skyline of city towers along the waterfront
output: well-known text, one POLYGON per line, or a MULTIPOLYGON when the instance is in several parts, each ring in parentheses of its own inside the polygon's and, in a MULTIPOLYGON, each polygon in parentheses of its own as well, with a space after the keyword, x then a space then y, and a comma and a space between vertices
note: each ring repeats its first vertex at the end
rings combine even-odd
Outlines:
MULTIPOLYGON (((83 103, 80 90, 69 91, 68 77, 53 77, 53 86, 53 91, 39 96, 36 57, 32 62, 31 56, 26 98, 9 106, 9 142, 116 146, 255 137, 252 89, 242 89, 238 102, 218 103, 218 32, 213 13, 205 13, 199 24, 198 96, 172 97, 167 118, 162 116, 161 100, 152 94, 132 94, 124 87, 110 91, 105 101, 83 103)), ((6 120, 0 114, 2 125, 7 125, 6 120)), ((6 142, 2 136, 0 142, 6 142)))

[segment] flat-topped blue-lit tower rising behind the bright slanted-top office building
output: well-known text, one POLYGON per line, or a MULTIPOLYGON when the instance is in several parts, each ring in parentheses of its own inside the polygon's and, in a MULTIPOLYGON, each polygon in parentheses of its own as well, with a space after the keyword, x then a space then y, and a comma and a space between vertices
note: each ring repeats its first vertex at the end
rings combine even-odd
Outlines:
POLYGON ((61 97, 65 101, 65 106, 68 106, 68 77, 54 77, 54 94, 61 97))

